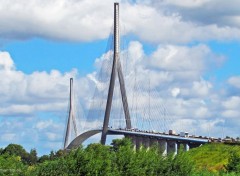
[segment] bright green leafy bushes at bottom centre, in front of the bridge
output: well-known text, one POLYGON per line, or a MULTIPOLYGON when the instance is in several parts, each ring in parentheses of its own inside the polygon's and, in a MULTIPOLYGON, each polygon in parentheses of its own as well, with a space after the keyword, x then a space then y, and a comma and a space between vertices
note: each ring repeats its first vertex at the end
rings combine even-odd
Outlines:
MULTIPOLYGON (((51 154, 52 156, 53 153, 51 154)), ((40 163, 34 175, 116 175, 116 176, 188 176, 192 162, 186 153, 162 156, 157 147, 134 150, 129 139, 114 140, 113 146, 90 144, 40 163)))

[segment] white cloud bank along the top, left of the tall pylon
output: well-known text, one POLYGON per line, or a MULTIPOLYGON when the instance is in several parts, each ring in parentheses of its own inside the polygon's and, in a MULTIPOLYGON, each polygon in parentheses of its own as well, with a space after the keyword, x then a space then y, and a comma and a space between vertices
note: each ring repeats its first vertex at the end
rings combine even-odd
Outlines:
POLYGON ((89 41, 105 38, 112 25, 111 0, 104 3, 100 0, 0 3, 0 36, 3 39, 45 37, 89 41))

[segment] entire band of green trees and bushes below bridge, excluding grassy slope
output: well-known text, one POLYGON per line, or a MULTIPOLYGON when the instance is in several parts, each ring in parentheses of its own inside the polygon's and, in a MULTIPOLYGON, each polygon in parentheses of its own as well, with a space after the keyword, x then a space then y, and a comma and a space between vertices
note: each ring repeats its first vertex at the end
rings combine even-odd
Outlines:
POLYGON ((90 144, 69 153, 59 150, 39 158, 35 149, 28 153, 20 145, 10 144, 0 150, 0 175, 236 176, 240 175, 240 154, 229 151, 227 164, 211 172, 199 167, 191 152, 163 156, 157 146, 136 151, 129 139, 113 140, 111 146, 90 144))

